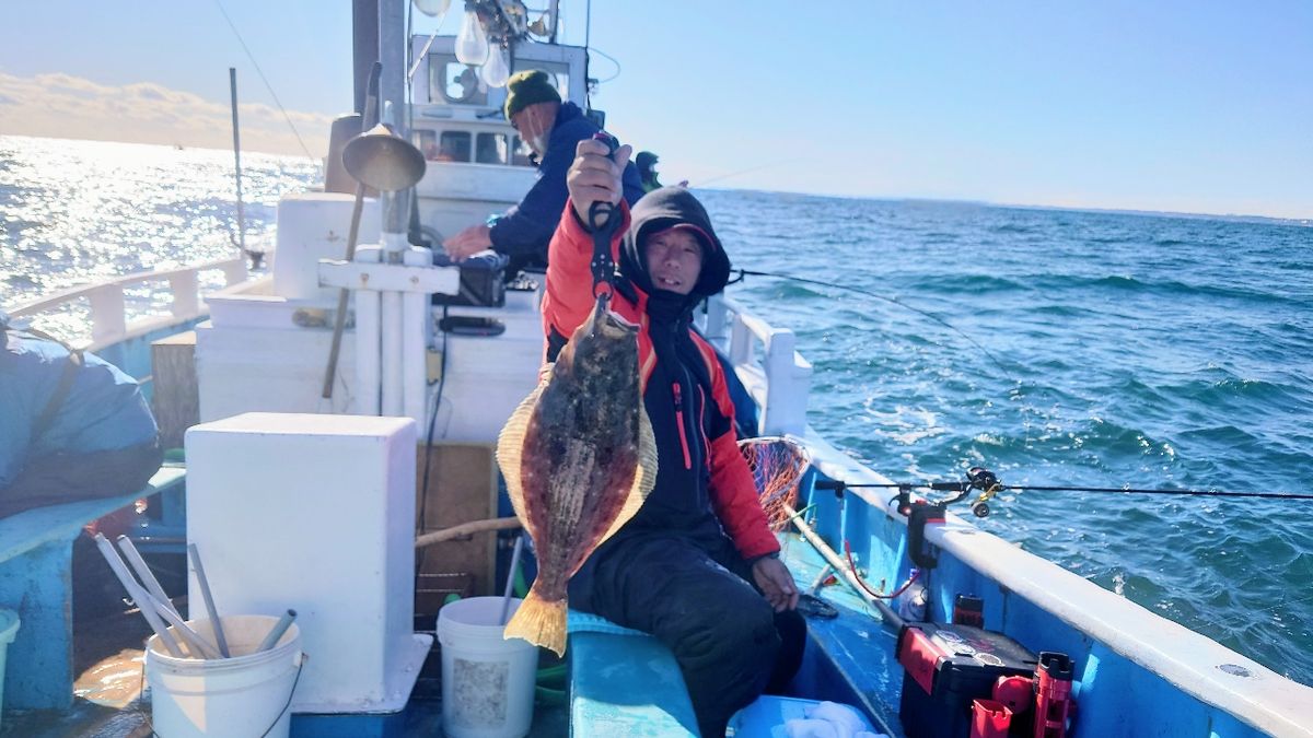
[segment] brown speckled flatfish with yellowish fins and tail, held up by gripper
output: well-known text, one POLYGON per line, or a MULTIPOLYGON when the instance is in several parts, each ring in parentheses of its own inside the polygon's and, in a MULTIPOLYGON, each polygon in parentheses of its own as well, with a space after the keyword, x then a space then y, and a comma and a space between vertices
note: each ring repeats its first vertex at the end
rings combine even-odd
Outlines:
POLYGON ((638 327, 611 313, 608 298, 597 298, 498 437, 515 515, 538 557, 538 576, 504 636, 558 655, 566 650, 566 584, 638 512, 656 482, 638 327))

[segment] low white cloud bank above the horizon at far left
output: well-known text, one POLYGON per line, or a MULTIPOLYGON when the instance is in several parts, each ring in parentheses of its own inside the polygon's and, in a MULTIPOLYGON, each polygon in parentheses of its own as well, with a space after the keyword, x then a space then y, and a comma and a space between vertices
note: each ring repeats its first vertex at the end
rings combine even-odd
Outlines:
MULTIPOLYGON (((277 108, 247 102, 238 113, 243 150, 305 155, 277 108)), ((312 156, 328 151, 331 116, 288 110, 288 118, 312 156)), ((0 134, 230 148, 232 112, 155 83, 108 87, 66 74, 0 72, 0 134)))

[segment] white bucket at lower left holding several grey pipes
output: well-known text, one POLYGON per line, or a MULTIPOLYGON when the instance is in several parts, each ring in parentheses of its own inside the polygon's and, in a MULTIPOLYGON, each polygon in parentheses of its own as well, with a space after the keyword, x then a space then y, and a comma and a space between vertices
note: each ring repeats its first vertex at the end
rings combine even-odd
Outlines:
MULTIPOLYGON (((301 671, 301 630, 293 624, 272 649, 255 653, 278 622, 277 617, 238 615, 221 621, 232 658, 177 658, 169 655, 159 636, 146 641, 146 680, 151 685, 155 734, 286 738, 291 725, 288 705, 301 671)), ((209 620, 188 625, 215 643, 209 620)))

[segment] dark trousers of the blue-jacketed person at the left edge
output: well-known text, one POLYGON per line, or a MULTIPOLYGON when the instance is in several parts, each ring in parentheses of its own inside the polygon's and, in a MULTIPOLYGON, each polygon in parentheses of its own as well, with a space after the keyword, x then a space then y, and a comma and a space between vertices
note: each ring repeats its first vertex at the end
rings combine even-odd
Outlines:
POLYGON ((29 461, 0 490, 0 517, 37 507, 113 498, 140 490, 163 461, 159 444, 91 453, 56 453, 29 461))

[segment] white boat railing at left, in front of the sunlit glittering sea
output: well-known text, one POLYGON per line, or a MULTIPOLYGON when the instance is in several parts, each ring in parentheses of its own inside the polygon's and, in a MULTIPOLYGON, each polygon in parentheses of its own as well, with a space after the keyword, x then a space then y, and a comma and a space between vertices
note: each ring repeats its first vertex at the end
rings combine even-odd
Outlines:
POLYGON ((101 347, 146 334, 169 323, 180 323, 206 314, 201 301, 201 273, 218 271, 223 273, 225 286, 232 286, 247 280, 246 259, 215 259, 189 267, 154 269, 114 277, 104 282, 79 285, 49 297, 18 305, 9 314, 14 318, 33 318, 59 310, 72 309, 85 299, 91 311, 91 339, 74 339, 81 348, 96 351, 101 347), (129 320, 126 288, 146 282, 168 282, 168 316, 148 315, 129 320))

